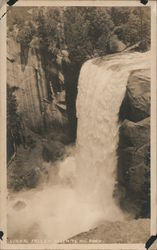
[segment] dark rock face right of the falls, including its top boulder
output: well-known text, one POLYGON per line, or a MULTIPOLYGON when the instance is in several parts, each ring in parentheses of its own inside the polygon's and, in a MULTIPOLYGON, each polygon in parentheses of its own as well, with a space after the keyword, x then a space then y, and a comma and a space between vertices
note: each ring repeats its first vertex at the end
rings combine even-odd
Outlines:
POLYGON ((150 71, 131 72, 120 108, 120 206, 136 217, 150 213, 150 71))

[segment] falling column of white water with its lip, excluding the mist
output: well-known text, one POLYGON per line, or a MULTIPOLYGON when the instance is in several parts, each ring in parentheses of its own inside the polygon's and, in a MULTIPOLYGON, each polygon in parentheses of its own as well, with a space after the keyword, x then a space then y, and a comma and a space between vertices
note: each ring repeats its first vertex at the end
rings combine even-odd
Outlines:
POLYGON ((120 106, 130 72, 149 68, 149 65, 149 52, 120 54, 105 60, 89 60, 80 73, 76 146, 78 186, 82 196, 90 196, 91 202, 99 205, 103 216, 110 220, 116 219, 118 212, 113 191, 120 106))

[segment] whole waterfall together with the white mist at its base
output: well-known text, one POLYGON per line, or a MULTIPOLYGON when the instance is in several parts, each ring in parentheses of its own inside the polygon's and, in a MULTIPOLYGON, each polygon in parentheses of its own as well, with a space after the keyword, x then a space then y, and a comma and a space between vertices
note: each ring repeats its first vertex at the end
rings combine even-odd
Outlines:
MULTIPOLYGON (((12 194, 8 201, 10 238, 23 234, 26 239, 63 241, 104 221, 125 220, 113 198, 118 114, 130 72, 149 64, 146 52, 89 60, 83 65, 76 146, 56 164, 55 182, 12 194), (16 209, 19 201, 23 207, 16 209)), ((51 180, 53 171, 49 175, 51 180)))

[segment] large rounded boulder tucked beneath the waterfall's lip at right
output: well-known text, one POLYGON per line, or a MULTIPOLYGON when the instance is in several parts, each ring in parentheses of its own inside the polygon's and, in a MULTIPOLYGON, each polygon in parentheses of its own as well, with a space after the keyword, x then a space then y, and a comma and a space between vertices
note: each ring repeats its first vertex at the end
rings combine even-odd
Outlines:
POLYGON ((140 121, 150 116, 150 70, 131 72, 120 116, 130 121, 140 121))

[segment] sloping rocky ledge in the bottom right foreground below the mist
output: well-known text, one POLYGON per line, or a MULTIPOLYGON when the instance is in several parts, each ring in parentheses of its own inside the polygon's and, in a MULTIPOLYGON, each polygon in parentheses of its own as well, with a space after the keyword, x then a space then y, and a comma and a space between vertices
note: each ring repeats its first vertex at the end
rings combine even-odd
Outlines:
POLYGON ((65 241, 71 244, 137 244, 150 237, 149 219, 104 221, 101 225, 65 241), (113 237, 114 235, 114 237, 113 237))

